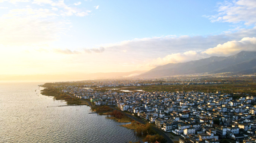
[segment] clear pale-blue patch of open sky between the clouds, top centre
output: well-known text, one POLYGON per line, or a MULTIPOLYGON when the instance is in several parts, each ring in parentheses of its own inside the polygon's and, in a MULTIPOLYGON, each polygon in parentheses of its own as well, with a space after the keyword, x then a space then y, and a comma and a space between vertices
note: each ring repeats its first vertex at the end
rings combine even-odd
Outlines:
POLYGON ((203 16, 216 13, 216 1, 85 1, 80 7, 98 5, 91 16, 68 18, 73 21, 69 34, 79 35, 76 41, 84 40, 88 47, 134 38, 220 34, 230 28, 203 16))

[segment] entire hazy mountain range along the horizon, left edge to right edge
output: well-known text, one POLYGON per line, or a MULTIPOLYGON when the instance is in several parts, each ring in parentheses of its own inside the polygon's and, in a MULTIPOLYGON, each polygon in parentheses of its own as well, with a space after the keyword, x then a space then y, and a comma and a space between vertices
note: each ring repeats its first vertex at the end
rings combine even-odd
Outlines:
POLYGON ((113 73, 77 73, 77 74, 37 74, 37 75, 0 75, 0 81, 77 81, 88 79, 115 79, 124 77, 163 77, 196 73, 234 74, 256 73, 256 52, 241 51, 229 57, 209 57, 186 63, 169 63, 147 72, 113 72, 113 73))

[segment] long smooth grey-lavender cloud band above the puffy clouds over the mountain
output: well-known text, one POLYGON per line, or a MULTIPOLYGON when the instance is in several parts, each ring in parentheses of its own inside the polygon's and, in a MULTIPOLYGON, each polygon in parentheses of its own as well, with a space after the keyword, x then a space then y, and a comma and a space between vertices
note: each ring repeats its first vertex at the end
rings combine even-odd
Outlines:
POLYGON ((134 58, 158 58, 165 57, 171 53, 184 53, 186 51, 204 51, 208 48, 216 47, 227 41, 240 41, 244 37, 253 37, 256 33, 256 27, 252 29, 241 29, 233 33, 224 33, 220 35, 207 36, 161 36, 152 38, 141 38, 100 45, 111 51, 124 50, 128 54, 133 54, 134 58))

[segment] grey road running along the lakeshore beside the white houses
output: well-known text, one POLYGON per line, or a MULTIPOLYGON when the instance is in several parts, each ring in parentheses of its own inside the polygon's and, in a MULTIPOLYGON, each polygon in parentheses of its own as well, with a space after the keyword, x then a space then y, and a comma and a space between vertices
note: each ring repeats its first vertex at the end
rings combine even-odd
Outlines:
MULTIPOLYGON (((109 106, 109 107, 112 108, 112 109, 115 109, 115 110, 119 110, 119 109, 116 109, 116 108, 111 107, 111 106, 109 106)), ((119 111, 121 111, 121 110, 119 110, 119 111)), ((125 113, 125 112, 123 112, 123 111, 121 111, 121 112, 122 112, 124 115, 126 115, 127 117, 129 117, 129 118, 131 118, 131 119, 133 119, 133 120, 135 120, 135 121, 138 121, 138 122, 141 123, 141 124, 147 124, 147 122, 145 122, 145 121, 143 121, 143 120, 140 120, 140 119, 134 117, 133 115, 127 114, 127 113, 125 113)), ((171 138, 170 138, 167 134, 165 134, 162 130, 160 130, 159 128, 156 128, 155 126, 152 126, 152 125, 151 125, 151 127, 152 127, 153 130, 156 131, 156 133, 158 133, 159 135, 163 136, 163 137, 165 138, 165 140, 167 140, 167 143, 174 143, 174 142, 171 140, 171 138)))

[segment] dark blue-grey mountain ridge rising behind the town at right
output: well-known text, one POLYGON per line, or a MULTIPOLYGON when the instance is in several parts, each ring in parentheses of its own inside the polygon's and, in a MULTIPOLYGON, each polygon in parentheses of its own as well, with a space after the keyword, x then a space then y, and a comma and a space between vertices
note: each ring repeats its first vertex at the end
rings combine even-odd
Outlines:
POLYGON ((209 57, 186 63, 169 63, 158 66, 139 75, 139 77, 163 77, 195 73, 255 73, 256 52, 241 51, 228 57, 209 57))

